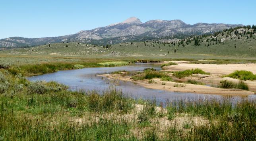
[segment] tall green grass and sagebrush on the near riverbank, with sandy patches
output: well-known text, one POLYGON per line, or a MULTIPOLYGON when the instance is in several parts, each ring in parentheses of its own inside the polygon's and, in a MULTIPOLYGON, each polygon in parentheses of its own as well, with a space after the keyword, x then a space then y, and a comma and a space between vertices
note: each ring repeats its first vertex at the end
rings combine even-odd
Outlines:
MULTIPOLYGON (((147 69, 148 72, 152 71, 147 69)), ((115 88, 67 91, 0 71, 3 140, 254 140, 256 100, 132 99, 115 88), (137 106, 142 108, 136 108, 137 106), (163 105, 166 105, 163 107, 163 105), (140 109, 140 110, 138 110, 140 109), (179 122, 184 118, 184 122, 179 122), (194 124, 194 119, 204 119, 194 124), (169 124, 163 124, 169 123, 169 124), (163 128, 164 127, 164 128, 163 128)))

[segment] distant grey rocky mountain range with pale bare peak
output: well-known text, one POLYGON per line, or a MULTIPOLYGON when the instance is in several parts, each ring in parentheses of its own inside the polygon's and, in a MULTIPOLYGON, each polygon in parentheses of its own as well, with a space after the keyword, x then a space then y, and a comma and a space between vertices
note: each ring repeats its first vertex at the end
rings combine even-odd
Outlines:
POLYGON ((142 23, 137 17, 130 17, 121 23, 98 27, 92 30, 82 30, 73 35, 46 38, 10 37, 0 40, 0 47, 16 48, 50 44, 54 42, 84 42, 97 44, 115 44, 124 41, 143 41, 160 37, 174 37, 175 35, 201 35, 213 33, 231 27, 223 23, 196 23, 189 25, 181 20, 150 20, 142 23))

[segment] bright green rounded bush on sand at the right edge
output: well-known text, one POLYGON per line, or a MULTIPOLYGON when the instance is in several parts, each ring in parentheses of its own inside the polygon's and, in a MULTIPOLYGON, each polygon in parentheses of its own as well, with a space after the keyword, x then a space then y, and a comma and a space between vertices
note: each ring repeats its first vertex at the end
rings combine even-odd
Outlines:
POLYGON ((233 73, 224 75, 223 77, 231 77, 240 80, 256 80, 256 74, 246 70, 235 70, 233 73))

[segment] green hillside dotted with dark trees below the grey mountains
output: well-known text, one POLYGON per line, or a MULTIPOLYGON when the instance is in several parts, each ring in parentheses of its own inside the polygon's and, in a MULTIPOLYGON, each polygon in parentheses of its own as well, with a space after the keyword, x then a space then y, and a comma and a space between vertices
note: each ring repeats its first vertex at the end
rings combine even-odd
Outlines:
POLYGON ((237 28, 212 35, 192 36, 186 39, 125 42, 95 46, 79 42, 55 43, 24 49, 2 51, 2 54, 84 56, 84 57, 142 57, 172 58, 173 56, 200 55, 250 57, 256 54, 255 29, 237 28))

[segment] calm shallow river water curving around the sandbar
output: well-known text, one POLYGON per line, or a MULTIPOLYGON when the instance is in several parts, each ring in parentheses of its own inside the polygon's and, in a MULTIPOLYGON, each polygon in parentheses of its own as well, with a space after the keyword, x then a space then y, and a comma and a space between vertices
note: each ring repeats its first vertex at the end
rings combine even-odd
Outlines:
MULTIPOLYGON (((143 71, 145 68, 155 68, 161 70, 160 65, 152 63, 135 63, 128 66, 121 67, 103 67, 103 68, 83 68, 79 70, 64 70, 54 73, 47 73, 44 75, 37 75, 28 77, 30 81, 57 81, 70 87, 70 90, 93 90, 99 91, 109 87, 116 87, 122 89, 127 95, 134 98, 142 99, 156 99, 157 101, 173 101, 185 99, 189 101, 199 99, 220 99, 222 96, 219 95, 206 95, 206 94, 195 94, 195 93, 179 93, 172 91, 164 91, 157 89, 148 89, 139 85, 136 85, 129 81, 112 81, 104 77, 97 76, 102 73, 111 73, 118 70, 126 71, 143 71)), ((250 95, 249 98, 256 98, 256 95, 250 95)), ((240 99, 240 97, 233 97, 234 99, 240 99)))

